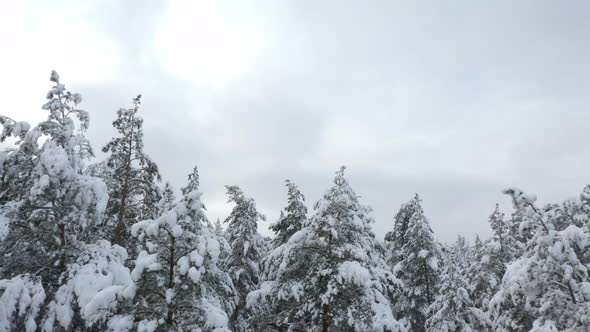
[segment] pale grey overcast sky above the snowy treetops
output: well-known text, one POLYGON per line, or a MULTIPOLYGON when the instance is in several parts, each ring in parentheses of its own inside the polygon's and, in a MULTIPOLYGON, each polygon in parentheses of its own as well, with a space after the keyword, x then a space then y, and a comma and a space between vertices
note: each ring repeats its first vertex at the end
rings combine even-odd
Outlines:
MULTIPOLYGON (((489 235, 500 191, 577 196, 590 172, 589 1, 9 1, 1 114, 32 123, 49 73, 84 97, 99 151, 142 93, 145 145, 175 188, 197 164, 268 221, 347 176, 379 238, 418 192, 438 238, 489 235)), ((101 157, 100 154, 98 154, 101 157)))

